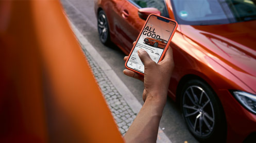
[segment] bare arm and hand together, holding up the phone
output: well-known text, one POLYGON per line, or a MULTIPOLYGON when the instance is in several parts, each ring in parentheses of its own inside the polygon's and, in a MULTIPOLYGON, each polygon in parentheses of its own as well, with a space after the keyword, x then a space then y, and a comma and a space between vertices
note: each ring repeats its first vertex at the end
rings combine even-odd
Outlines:
MULTIPOLYGON (((146 51, 139 50, 138 53, 145 66, 144 77, 130 70, 124 70, 124 74, 144 81, 145 103, 124 138, 126 142, 156 142, 169 80, 174 68, 173 52, 169 47, 164 59, 158 64, 151 60, 146 51)), ((126 59, 127 57, 124 58, 126 59)))

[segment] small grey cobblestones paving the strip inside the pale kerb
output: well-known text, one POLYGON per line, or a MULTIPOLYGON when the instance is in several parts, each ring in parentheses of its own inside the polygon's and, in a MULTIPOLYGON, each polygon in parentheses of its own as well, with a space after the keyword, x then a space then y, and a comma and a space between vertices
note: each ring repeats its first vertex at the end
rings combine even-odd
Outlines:
POLYGON ((132 121, 136 117, 136 113, 132 111, 132 109, 126 103, 125 99, 116 90, 114 85, 105 75, 103 70, 101 70, 101 68, 97 65, 89 52, 85 48, 82 48, 82 50, 84 54, 86 54, 88 63, 93 71, 93 74, 97 80, 101 92, 105 96, 107 104, 119 128, 119 131, 122 135, 124 135, 131 126, 132 121))

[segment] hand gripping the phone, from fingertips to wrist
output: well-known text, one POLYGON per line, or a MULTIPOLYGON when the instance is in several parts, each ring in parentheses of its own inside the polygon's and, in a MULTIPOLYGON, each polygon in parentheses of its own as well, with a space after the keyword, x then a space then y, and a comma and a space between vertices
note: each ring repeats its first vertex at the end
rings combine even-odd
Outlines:
MULTIPOLYGON (((142 96, 144 101, 151 98, 160 104, 165 104, 170 76, 174 69, 172 48, 169 47, 167 49, 163 60, 158 64, 153 62, 148 53, 143 49, 138 50, 138 55, 144 63, 144 76, 128 69, 124 70, 124 74, 144 81, 145 89, 142 96)), ((125 56, 124 60, 126 61, 127 58, 128 56, 125 56)))

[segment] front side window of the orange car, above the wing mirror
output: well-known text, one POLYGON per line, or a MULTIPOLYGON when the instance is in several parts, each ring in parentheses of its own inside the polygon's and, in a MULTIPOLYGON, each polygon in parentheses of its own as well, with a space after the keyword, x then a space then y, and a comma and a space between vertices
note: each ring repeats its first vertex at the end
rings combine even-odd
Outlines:
POLYGON ((162 16, 169 17, 167 10, 166 10, 166 5, 163 0, 129 0, 133 3, 135 3, 139 8, 157 8, 162 16))

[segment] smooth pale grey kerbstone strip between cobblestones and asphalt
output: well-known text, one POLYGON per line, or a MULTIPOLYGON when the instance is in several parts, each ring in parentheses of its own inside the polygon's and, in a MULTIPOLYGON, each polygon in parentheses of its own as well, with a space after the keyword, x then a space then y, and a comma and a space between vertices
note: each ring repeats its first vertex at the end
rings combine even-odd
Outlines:
MULTIPOLYGON (((83 48, 91 54, 95 62, 100 66, 100 68, 104 71, 104 73, 108 76, 111 83, 115 86, 117 91, 123 96, 126 100, 127 104, 131 107, 133 112, 139 113, 142 105, 136 99, 136 97, 131 93, 131 91, 125 86, 123 81, 116 75, 116 73, 112 70, 112 68, 108 65, 108 63, 104 60, 103 57, 95 50, 95 48, 88 42, 86 37, 84 37, 80 31, 76 28, 76 26, 71 22, 70 25, 77 36, 79 42, 83 45, 83 48)), ((158 128, 158 139, 159 143, 172 143, 169 138, 165 135, 165 133, 158 128)))

